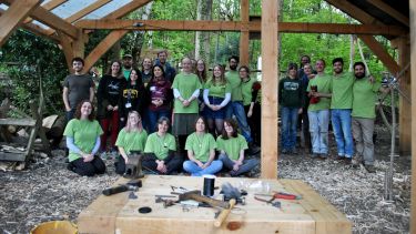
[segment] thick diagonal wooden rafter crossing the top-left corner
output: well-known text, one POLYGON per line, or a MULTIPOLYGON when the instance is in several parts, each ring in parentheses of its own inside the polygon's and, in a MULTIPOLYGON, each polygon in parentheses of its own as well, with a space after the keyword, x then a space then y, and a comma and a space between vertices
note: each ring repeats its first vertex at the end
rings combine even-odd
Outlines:
POLYGON ((27 0, 10 4, 9 9, 0 17, 0 47, 40 3, 40 0, 27 0))

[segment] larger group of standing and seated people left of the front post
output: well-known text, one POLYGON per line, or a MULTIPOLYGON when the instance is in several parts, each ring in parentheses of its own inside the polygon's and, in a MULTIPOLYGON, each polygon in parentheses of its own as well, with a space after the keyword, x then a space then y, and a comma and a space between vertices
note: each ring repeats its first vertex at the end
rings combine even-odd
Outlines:
POLYGON ((72 60, 74 73, 62 94, 70 170, 104 173, 100 155, 109 151, 119 155, 119 174, 132 153, 141 153, 143 169, 159 174, 184 170, 199 176, 225 169, 236 176, 258 164, 246 159, 260 153, 261 135, 260 84, 248 68, 237 70, 239 58, 231 57, 230 70, 216 64, 211 77, 203 60, 184 58, 176 73, 166 59, 166 51, 154 62, 144 58, 141 70, 129 54, 113 61, 99 81, 97 109, 94 82, 83 73, 83 60, 72 60))

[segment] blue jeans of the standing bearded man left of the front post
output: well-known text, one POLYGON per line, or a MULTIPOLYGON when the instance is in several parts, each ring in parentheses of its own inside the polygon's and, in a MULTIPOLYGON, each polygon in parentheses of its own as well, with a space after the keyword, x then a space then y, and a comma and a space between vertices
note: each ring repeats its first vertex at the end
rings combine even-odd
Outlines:
POLYGON ((225 119, 231 119, 233 114, 235 119, 237 119, 239 128, 241 130, 242 135, 248 143, 251 143, 253 139, 242 101, 234 101, 227 104, 225 111, 225 119))

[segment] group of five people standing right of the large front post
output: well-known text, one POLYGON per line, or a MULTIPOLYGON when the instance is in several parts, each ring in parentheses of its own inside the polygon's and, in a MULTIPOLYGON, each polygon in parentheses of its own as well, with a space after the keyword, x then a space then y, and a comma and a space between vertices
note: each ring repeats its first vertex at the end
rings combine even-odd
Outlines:
POLYGON ((296 131, 298 116, 305 147, 315 159, 328 156, 329 120, 337 146, 337 159, 352 163, 353 155, 368 172, 374 167, 375 100, 378 92, 388 92, 372 75, 363 62, 355 62, 354 71, 344 71, 344 61, 332 61, 333 73, 325 73, 325 60, 318 59, 315 70, 308 55, 287 67, 287 77, 278 84, 282 112, 282 153, 297 153, 296 131), (355 152, 354 152, 354 140, 355 152))

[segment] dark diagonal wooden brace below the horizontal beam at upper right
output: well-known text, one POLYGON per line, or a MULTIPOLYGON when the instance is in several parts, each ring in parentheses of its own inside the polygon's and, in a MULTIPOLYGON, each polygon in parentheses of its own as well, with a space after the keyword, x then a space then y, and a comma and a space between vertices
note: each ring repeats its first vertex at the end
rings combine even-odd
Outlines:
POLYGON ((374 54, 382 60, 383 64, 388 69, 392 74, 397 74, 400 71, 400 67, 397 62, 388 54, 386 49, 373 37, 373 35, 358 35, 367 47, 373 51, 374 54))

